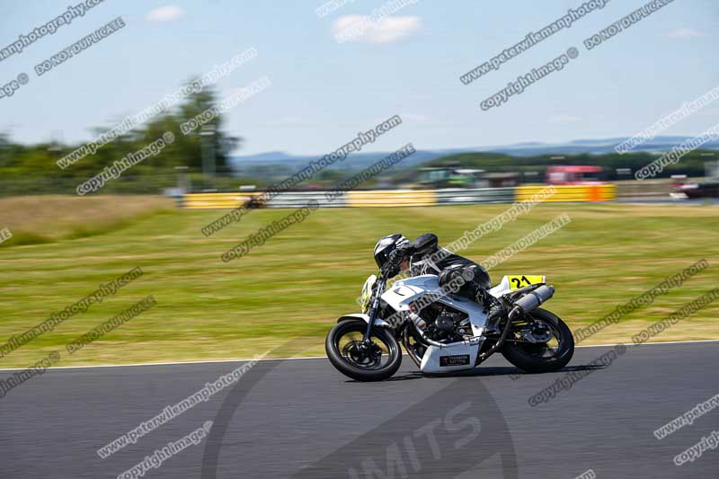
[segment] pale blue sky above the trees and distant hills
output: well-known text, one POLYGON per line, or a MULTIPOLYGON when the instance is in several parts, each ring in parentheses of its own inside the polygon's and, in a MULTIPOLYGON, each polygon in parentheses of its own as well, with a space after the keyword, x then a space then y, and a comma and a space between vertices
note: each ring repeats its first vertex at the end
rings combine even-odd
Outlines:
MULTIPOLYGON (((1 2, 0 48, 80 0, 1 2)), ((333 29, 386 1, 354 0, 320 18, 316 1, 105 0, 0 62, 0 84, 30 75, 0 99, 0 131, 22 142, 90 139, 245 49, 258 57, 217 83, 219 92, 267 75, 272 86, 226 115, 245 138, 236 152, 323 154, 395 114, 399 128, 365 151, 456 148, 634 135, 719 85, 719 3, 675 0, 588 51, 582 40, 645 3, 612 0, 472 84, 458 77, 560 18, 582 0, 408 4, 357 41, 333 29), (32 67, 115 17, 127 26, 38 77, 32 67), (532 67, 576 47, 579 58, 499 108, 479 103, 532 67)), ((697 135, 719 102, 665 133, 697 135)))

